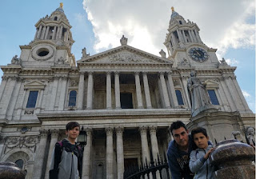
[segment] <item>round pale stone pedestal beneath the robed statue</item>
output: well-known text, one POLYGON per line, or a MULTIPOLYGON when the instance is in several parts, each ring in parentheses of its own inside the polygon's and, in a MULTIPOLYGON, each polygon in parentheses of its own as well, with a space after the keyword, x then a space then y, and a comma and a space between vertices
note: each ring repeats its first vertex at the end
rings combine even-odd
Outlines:
POLYGON ((191 117, 190 122, 186 126, 190 131, 196 127, 205 128, 212 142, 215 139, 219 142, 234 138, 232 135, 233 131, 240 131, 244 137, 244 127, 239 112, 206 109, 195 117, 191 117))

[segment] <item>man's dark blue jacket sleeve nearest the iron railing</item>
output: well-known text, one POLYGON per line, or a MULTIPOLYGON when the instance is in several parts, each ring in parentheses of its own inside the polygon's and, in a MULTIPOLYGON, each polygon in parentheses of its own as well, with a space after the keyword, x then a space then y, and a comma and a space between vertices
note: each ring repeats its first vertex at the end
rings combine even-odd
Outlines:
POLYGON ((182 179, 182 171, 180 169, 180 166, 178 165, 178 161, 176 160, 176 157, 170 153, 170 151, 167 152, 168 157, 168 165, 171 173, 172 179, 182 179))

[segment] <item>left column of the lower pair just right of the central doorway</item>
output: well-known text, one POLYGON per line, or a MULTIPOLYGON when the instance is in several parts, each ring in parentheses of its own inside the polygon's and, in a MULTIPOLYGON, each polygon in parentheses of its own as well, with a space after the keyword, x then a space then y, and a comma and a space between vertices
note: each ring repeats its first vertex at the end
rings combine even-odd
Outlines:
POLYGON ((141 133, 141 141, 142 141, 142 162, 146 164, 146 161, 150 161, 150 151, 149 145, 146 137, 146 126, 139 127, 139 131, 141 133))

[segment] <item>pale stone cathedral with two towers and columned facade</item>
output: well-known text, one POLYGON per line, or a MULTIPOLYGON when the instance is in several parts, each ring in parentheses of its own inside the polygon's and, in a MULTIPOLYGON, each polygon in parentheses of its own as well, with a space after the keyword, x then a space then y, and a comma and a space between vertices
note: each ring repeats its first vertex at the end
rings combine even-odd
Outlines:
POLYGON ((219 62, 197 24, 174 10, 164 41, 168 57, 163 50, 156 56, 128 46, 123 36, 121 46, 99 54, 90 56, 84 48, 76 62, 62 6, 35 26, 20 57, 1 66, 0 161, 16 162, 26 179, 48 178, 54 144, 65 137, 68 121, 78 121, 87 133, 83 178, 122 178, 150 153, 163 157, 173 121, 206 126, 212 141, 254 126, 236 67, 219 62), (215 108, 198 118, 191 118, 186 87, 191 70, 206 84, 215 108))

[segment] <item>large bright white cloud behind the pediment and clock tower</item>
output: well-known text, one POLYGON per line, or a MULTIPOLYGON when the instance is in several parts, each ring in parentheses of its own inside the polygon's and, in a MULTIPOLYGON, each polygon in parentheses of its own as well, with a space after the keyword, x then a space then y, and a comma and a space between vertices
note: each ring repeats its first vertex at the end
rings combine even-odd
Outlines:
POLYGON ((248 17, 254 17, 254 0, 84 0, 83 5, 94 27, 96 51, 120 46, 124 34, 128 45, 159 55, 161 49, 166 50, 162 43, 171 6, 183 18, 198 24, 202 41, 218 48, 218 57, 223 57, 230 47, 255 44, 254 24, 246 22, 248 17))

